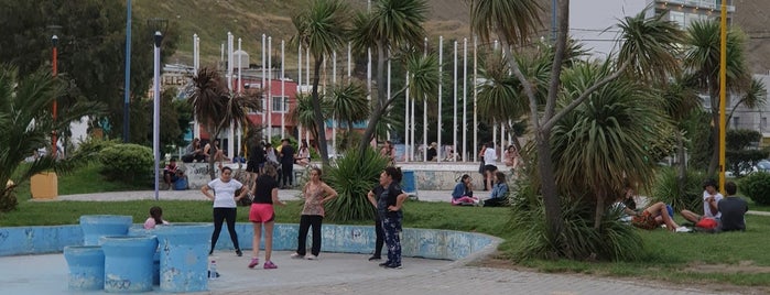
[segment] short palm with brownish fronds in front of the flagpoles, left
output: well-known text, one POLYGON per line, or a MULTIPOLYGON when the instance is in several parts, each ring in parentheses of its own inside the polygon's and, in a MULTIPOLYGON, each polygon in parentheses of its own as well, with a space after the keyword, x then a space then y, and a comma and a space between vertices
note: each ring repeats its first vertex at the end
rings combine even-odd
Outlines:
MULTIPOLYGON (((200 124, 212 135, 212 140, 218 139, 219 134, 231 125, 253 128, 249 112, 261 109, 261 92, 231 92, 219 73, 206 67, 200 68, 193 77, 193 84, 195 90, 188 101, 200 124)), ((214 156, 209 156, 208 160, 208 175, 212 179, 216 177, 215 160, 214 156)))

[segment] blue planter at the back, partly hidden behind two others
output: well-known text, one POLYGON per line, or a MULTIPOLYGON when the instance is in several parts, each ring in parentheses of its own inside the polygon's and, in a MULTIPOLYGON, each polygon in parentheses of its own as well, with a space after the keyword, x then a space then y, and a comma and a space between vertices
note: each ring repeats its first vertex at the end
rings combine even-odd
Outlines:
POLYGON ((85 245, 98 245, 99 237, 126 236, 133 217, 122 215, 84 215, 80 216, 80 229, 85 245))

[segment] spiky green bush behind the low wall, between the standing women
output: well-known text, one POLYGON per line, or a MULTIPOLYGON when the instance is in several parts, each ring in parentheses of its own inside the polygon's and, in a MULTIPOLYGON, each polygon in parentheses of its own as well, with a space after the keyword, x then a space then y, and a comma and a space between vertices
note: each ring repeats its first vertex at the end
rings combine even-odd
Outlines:
POLYGON ((367 193, 377 185, 380 173, 388 160, 373 149, 351 150, 336 161, 336 165, 325 168, 324 181, 338 196, 326 205, 326 218, 334 221, 373 220, 375 208, 367 199, 367 193))

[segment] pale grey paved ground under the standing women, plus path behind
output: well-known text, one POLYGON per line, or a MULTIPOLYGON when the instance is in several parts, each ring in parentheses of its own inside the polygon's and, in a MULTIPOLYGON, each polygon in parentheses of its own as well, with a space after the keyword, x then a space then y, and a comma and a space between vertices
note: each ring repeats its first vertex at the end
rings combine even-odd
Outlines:
MULTIPOLYGON (((284 200, 299 199, 299 190, 280 190, 284 200)), ((421 190, 420 200, 448 201, 448 192, 421 190)), ((485 196, 481 196, 485 197, 485 196)), ((154 192, 120 192, 59 196, 58 200, 153 199, 154 192)), ((197 190, 163 190, 160 199, 199 199, 197 190)), ((767 212, 761 212, 767 215, 767 212)), ((293 260, 274 252, 278 270, 246 267, 250 256, 217 251, 221 277, 200 294, 729 294, 706 289, 661 286, 616 278, 468 266, 487 253, 460 261, 405 258, 402 270, 384 270, 368 255, 322 252, 318 261, 293 260)), ((260 252, 261 259, 263 253, 260 252)), ((62 254, 0 258, 0 294, 62 294, 67 266, 62 254), (35 265, 35 267, 20 267, 35 265)))

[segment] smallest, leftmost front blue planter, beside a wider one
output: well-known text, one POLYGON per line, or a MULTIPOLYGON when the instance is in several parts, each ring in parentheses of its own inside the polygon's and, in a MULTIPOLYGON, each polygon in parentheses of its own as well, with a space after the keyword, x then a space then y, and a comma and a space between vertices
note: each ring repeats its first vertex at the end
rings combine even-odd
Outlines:
POLYGON ((100 245, 65 247, 64 259, 69 266, 69 289, 90 291, 105 287, 105 252, 100 245))

